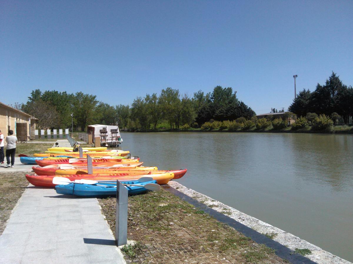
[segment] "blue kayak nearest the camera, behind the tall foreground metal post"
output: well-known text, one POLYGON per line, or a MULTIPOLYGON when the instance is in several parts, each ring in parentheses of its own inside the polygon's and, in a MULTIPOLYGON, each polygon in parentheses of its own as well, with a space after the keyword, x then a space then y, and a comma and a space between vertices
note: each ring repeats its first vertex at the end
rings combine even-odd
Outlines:
MULTIPOLYGON (((120 181, 122 184, 138 184, 141 186, 125 186, 128 194, 138 194, 147 191, 143 186, 147 183, 157 183, 156 180, 148 182, 139 181, 120 181)), ((84 197, 101 197, 101 196, 115 196, 116 195, 116 182, 107 183, 99 182, 96 184, 83 184, 83 183, 69 183, 66 185, 56 185, 56 193, 65 195, 77 195, 84 197)))

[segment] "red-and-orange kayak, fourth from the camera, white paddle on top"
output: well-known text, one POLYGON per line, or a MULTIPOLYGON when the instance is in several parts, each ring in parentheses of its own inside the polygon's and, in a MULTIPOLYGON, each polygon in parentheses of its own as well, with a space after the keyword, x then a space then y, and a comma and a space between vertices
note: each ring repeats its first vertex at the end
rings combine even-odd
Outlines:
MULTIPOLYGON (((64 166, 67 164, 64 164, 64 166)), ((70 164, 71 165, 71 164, 70 164)), ((72 168, 63 168, 62 164, 54 164, 54 165, 49 165, 45 167, 32 167, 32 170, 35 172, 37 175, 75 175, 75 174, 88 174, 87 171, 87 166, 72 166, 72 168), (53 167, 56 166, 56 167, 53 167), (56 171, 58 174, 56 174, 56 171), (61 173, 61 171, 65 171, 66 173, 61 173)), ((99 169, 108 169, 100 166, 92 166, 94 173, 98 173, 99 169)), ((121 164, 119 167, 113 168, 114 171, 146 171, 146 174, 149 171, 157 170, 157 167, 144 167, 144 166, 125 166, 125 164, 121 164)), ((104 172, 103 172, 104 173, 104 172)), ((120 172, 119 172, 120 173, 120 172)))

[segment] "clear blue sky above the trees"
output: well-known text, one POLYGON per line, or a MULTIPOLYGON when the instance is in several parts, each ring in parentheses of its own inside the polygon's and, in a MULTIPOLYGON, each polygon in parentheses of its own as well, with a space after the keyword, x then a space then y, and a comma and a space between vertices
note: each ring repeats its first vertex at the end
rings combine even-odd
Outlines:
POLYGON ((33 89, 109 103, 237 90, 258 114, 331 71, 353 86, 353 1, 0 2, 0 101, 33 89))

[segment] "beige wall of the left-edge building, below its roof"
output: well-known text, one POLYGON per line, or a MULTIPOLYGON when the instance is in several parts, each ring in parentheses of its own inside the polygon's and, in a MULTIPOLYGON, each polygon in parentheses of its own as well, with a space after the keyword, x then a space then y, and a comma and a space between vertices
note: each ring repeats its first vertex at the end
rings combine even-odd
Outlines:
POLYGON ((0 106, 0 130, 5 137, 8 130, 13 130, 16 136, 16 123, 27 123, 27 136, 29 136, 29 116, 0 106))

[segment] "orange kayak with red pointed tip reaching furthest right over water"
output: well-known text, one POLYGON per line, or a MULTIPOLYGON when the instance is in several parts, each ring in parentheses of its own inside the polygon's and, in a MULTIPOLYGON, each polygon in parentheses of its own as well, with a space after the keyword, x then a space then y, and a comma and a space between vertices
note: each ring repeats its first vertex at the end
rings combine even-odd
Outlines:
MULTIPOLYGON (((34 172, 36 172, 36 170, 33 170, 34 172)), ((173 179, 179 179, 181 177, 183 177, 186 173, 187 169, 183 169, 183 170, 155 170, 155 171, 133 171, 133 170, 126 170, 125 168, 121 168, 116 169, 116 168, 112 168, 112 169, 94 169, 93 168, 93 173, 94 174, 104 174, 104 173, 109 173, 109 174, 114 174, 114 173, 126 173, 126 174, 161 174, 161 173, 167 173, 167 172, 172 172, 174 174, 174 178, 173 179)), ((36 174, 38 174, 36 172, 36 174)), ((54 175, 85 175, 88 174, 88 170, 86 169, 63 169, 63 170, 56 170, 54 172, 54 175)), ((38 174, 40 175, 40 174, 38 174)), ((43 175, 43 174, 42 174, 43 175)), ((46 174, 49 175, 49 174, 46 174)), ((51 175, 51 174, 50 174, 51 175)))

